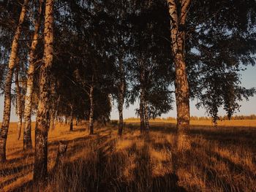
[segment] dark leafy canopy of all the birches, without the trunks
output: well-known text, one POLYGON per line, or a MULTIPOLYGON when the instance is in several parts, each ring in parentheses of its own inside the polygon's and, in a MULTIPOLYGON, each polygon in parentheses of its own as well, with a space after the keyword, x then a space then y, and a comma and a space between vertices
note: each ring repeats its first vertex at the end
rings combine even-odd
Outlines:
MULTIPOLYGON (((23 25, 19 58, 21 77, 26 81, 29 46, 37 2, 29 4, 23 25)), ((0 3, 0 88, 4 85, 13 28, 20 5, 0 3)), ((127 106, 145 89, 149 115, 156 118, 173 108, 174 65, 170 50, 170 18, 166 1, 56 1, 54 12, 54 64, 52 108, 59 115, 86 118, 89 87, 95 86, 97 117, 109 117, 110 98, 117 99, 120 81, 125 82, 127 106), (121 72, 120 62, 124 65, 121 72), (140 74, 145 73, 141 80, 140 74), (92 81, 94 77, 94 81, 92 81), (57 100, 59 104, 57 104, 57 100)), ((240 72, 255 65, 256 2, 254 0, 192 1, 187 15, 186 63, 190 98, 198 99, 214 123, 219 109, 231 118, 238 101, 254 96, 255 88, 241 85, 240 72)), ((42 27, 41 27, 42 34, 42 27)), ((39 39, 36 68, 42 58, 39 39)), ((38 70, 35 72, 34 108, 37 107, 38 70)), ((2 93, 2 91, 0 91, 2 93)))

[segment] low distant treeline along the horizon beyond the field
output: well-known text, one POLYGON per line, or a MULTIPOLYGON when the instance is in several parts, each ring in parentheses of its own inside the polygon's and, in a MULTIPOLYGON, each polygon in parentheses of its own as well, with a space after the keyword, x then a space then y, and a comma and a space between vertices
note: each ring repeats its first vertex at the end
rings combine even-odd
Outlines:
MULTIPOLYGON (((231 120, 256 120, 256 115, 234 115, 231 120)), ((140 118, 126 118, 125 120, 140 120, 140 118)), ((176 120, 176 118, 154 118, 154 120, 176 120)), ((191 116, 190 120, 211 120, 211 117, 197 117, 191 116)), ((219 116, 219 120, 228 120, 227 115, 219 116)))

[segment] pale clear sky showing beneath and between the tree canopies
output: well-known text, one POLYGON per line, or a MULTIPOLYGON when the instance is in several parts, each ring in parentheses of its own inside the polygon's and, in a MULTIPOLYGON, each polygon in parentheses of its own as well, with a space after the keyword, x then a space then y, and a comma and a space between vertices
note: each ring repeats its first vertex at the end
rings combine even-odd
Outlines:
MULTIPOLYGON (((244 72, 241 72, 241 85, 245 88, 256 88, 256 66, 248 66, 244 72)), ((190 115, 196 116, 206 116, 206 110, 200 108, 197 110, 195 107, 196 101, 190 101, 190 115)), ((241 108, 239 112, 235 115, 251 115, 256 114, 256 96, 251 97, 249 101, 241 101, 241 108)), ((4 107, 4 97, 0 96, 0 122, 3 118, 3 107, 4 107)), ((138 102, 134 105, 130 105, 129 108, 124 109, 124 118, 136 117, 135 110, 139 107, 138 102)), ((111 119, 118 119, 118 110, 116 104, 114 104, 111 119)), ((219 115, 225 115, 225 111, 219 110, 219 115)), ((161 116, 162 118, 176 117, 176 106, 174 104, 173 110, 161 116)), ((15 115, 15 109, 12 106, 11 121, 17 121, 17 116, 15 115)))

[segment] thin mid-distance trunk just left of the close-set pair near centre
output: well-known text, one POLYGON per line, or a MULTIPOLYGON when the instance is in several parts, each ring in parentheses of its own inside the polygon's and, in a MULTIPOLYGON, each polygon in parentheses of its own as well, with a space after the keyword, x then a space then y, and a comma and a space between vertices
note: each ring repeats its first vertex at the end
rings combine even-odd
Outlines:
POLYGON ((123 107, 124 107, 124 89, 125 89, 125 77, 124 77, 124 65, 121 58, 119 60, 119 71, 120 71, 120 84, 118 88, 118 112, 119 112, 119 124, 118 124, 118 135, 122 135, 124 128, 123 119, 123 107))

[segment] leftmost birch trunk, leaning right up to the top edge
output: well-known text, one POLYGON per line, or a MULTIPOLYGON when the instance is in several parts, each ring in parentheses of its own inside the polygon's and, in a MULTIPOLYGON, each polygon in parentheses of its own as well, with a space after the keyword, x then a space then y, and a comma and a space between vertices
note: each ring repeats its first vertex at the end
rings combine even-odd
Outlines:
POLYGON ((11 87, 12 87, 12 74, 15 67, 15 60, 18 53, 18 40, 20 39, 21 26, 26 15, 26 6, 29 0, 25 0, 22 5, 20 12, 20 18, 18 21, 18 27, 15 31, 15 35, 12 41, 12 49, 10 53, 10 60, 8 65, 8 72, 5 79, 4 85, 4 115, 3 121, 1 123, 1 132, 0 132, 0 161, 6 160, 6 142, 8 128, 10 124, 10 112, 11 112, 11 87))

